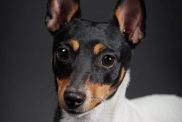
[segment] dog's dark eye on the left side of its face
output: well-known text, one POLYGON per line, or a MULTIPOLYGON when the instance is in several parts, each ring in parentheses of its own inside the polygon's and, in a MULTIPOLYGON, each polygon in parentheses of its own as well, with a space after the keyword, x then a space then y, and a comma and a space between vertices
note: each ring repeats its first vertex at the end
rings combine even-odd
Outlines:
POLYGON ((56 53, 56 57, 59 61, 69 61, 70 59, 70 51, 66 48, 60 48, 58 49, 57 53, 56 53))

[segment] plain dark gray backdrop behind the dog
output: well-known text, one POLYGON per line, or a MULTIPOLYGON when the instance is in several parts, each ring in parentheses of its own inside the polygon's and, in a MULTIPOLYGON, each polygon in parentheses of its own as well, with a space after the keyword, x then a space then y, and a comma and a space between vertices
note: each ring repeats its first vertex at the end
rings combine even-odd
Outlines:
MULTIPOLYGON (((87 19, 111 18, 116 0, 82 0, 87 19)), ((0 122, 52 122, 56 104, 46 0, 0 4, 0 122)), ((129 98, 182 96, 182 2, 146 0, 147 36, 131 62, 129 98)))

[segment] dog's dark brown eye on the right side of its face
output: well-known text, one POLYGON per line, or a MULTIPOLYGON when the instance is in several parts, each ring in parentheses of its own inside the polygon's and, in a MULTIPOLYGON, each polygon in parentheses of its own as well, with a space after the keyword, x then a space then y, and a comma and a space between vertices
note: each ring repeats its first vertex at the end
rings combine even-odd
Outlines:
POLYGON ((115 56, 112 56, 112 55, 105 55, 103 58, 102 58, 102 65, 105 66, 105 67, 112 67, 115 63, 115 56))

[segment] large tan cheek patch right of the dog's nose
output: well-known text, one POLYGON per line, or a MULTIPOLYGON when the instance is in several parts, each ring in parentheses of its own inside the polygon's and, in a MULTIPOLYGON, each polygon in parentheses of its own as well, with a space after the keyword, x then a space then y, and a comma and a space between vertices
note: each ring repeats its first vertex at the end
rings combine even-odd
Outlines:
POLYGON ((105 99, 107 99, 111 94, 113 94, 118 88, 118 86, 122 83, 125 74, 126 70, 124 67, 122 67, 119 72, 118 82, 114 86, 98 82, 94 83, 88 80, 85 84, 87 91, 87 100, 85 101, 83 110, 84 111, 92 110, 97 105, 102 103, 105 99))

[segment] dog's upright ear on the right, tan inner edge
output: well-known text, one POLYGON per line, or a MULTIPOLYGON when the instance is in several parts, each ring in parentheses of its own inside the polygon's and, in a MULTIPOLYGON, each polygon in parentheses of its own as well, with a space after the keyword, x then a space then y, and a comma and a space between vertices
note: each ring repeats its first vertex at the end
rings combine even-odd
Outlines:
POLYGON ((142 0, 121 0, 115 8, 115 17, 120 31, 138 44, 144 37, 145 7, 142 0))

